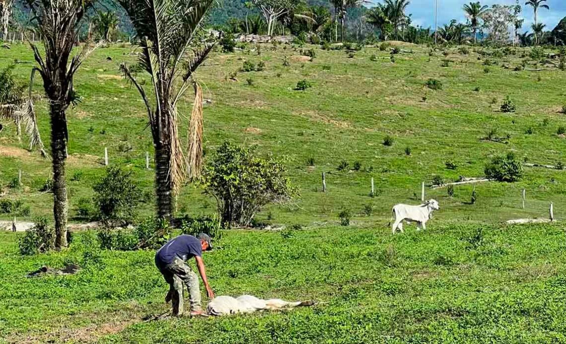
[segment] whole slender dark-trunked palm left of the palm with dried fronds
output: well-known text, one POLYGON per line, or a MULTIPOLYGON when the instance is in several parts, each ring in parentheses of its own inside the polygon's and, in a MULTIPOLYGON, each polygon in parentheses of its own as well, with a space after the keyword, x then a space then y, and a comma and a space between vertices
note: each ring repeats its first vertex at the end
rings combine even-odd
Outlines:
POLYGON ((67 185, 65 160, 67 158, 67 117, 65 111, 77 97, 73 78, 87 53, 87 48, 75 56, 71 53, 78 39, 78 31, 85 12, 94 0, 25 0, 35 14, 33 20, 41 34, 43 55, 31 43, 49 99, 51 119, 51 154, 53 156, 53 215, 55 217, 55 248, 67 246, 67 185))

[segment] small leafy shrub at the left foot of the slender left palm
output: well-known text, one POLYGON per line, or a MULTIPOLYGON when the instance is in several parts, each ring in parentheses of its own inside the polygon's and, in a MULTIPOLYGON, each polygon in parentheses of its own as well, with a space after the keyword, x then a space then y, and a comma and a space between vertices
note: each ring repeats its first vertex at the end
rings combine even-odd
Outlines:
POLYGON ((55 249, 55 229, 48 225, 45 217, 38 217, 35 225, 18 238, 18 248, 22 255, 33 255, 55 249))

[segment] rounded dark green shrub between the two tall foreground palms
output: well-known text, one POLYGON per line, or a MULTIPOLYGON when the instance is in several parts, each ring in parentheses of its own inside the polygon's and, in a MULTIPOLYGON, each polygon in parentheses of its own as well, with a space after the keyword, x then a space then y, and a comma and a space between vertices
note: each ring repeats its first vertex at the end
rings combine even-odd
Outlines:
POLYGON ((96 216, 104 223, 119 225, 131 223, 136 207, 141 202, 141 191, 132 180, 132 172, 110 166, 92 189, 96 216))

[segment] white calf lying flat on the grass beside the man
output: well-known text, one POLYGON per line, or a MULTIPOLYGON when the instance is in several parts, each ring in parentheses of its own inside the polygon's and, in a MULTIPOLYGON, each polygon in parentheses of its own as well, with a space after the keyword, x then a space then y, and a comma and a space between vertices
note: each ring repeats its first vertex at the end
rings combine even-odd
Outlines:
POLYGON ((242 295, 238 298, 230 296, 217 296, 208 303, 209 315, 229 315, 236 313, 252 313, 263 310, 286 310, 294 307, 313 306, 313 301, 287 302, 281 299, 262 300, 251 295, 242 295))

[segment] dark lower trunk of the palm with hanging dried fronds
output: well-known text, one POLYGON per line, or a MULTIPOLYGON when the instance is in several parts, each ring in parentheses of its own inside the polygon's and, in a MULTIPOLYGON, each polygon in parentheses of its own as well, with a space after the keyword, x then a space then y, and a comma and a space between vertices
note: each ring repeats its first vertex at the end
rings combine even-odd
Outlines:
POLYGON ((155 146, 155 192, 157 197, 157 217, 170 219, 173 215, 173 182, 169 177, 171 148, 165 143, 155 146))

